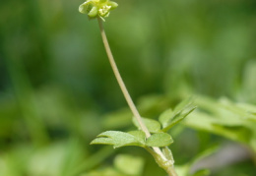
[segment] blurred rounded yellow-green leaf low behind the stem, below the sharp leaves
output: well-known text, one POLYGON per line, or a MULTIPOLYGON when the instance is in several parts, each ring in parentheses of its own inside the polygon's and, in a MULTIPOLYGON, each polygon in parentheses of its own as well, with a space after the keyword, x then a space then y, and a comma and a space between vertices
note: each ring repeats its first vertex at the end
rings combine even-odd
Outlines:
POLYGON ((114 166, 127 175, 142 175, 144 164, 142 157, 128 154, 118 154, 114 159, 114 166))

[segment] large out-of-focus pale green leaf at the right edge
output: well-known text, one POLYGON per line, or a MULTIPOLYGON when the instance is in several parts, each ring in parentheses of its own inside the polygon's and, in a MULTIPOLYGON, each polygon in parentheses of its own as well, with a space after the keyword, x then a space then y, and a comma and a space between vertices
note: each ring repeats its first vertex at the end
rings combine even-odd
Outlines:
POLYGON ((184 124, 199 130, 221 135, 227 139, 251 146, 255 123, 251 120, 253 106, 239 106, 226 98, 217 101, 205 96, 196 99, 200 108, 184 124))

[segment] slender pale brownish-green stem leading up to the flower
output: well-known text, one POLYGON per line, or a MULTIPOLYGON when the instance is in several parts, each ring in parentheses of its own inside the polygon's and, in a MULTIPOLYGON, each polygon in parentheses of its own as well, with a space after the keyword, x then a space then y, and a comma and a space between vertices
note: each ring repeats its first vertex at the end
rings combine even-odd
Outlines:
MULTIPOLYGON (((104 31, 104 28, 103 28, 102 20, 100 18, 97 18, 97 22, 98 22, 98 25, 99 25, 100 34, 101 34, 101 37, 102 37, 104 48, 105 48, 108 60, 110 62, 110 65, 112 67, 112 70, 114 72, 115 78, 117 80, 117 83, 120 86, 120 88, 121 88, 121 90, 124 94, 124 97, 125 97, 128 105, 129 105, 134 117, 138 121, 142 131, 146 134, 146 137, 149 138, 151 136, 151 134, 150 134, 148 128, 146 127, 146 125, 144 124, 144 122, 142 120, 142 117, 141 117, 139 111, 137 110, 137 108, 136 108, 136 106, 135 106, 127 88, 125 87, 125 84, 122 80, 122 77, 121 77, 121 75, 118 71, 118 68, 117 68, 116 64, 115 64, 114 57, 113 57, 113 54, 111 52, 111 49, 110 49, 110 46, 108 44, 107 37, 106 37, 105 31, 104 31)), ((166 165, 166 163, 169 162, 169 161, 166 159, 164 154, 161 152, 160 147, 153 147, 153 149, 154 149, 154 151, 151 149, 151 151, 152 151, 151 153, 155 157, 156 161, 159 163, 160 167, 163 168, 168 173, 169 176, 176 176, 177 174, 174 171, 173 164, 171 165, 171 167, 169 167, 168 164, 166 165)))

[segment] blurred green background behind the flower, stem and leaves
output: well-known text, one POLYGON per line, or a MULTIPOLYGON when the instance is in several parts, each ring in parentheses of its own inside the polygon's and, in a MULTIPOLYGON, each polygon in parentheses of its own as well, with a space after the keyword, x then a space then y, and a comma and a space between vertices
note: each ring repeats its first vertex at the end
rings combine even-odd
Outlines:
MULTIPOLYGON (((103 130, 133 127, 97 23, 78 12, 82 3, 0 2, 1 176, 112 176, 117 153, 145 158, 142 175, 164 175, 142 148, 89 146, 103 130)), ((154 118, 195 94, 255 105, 256 1, 117 3, 104 27, 143 116, 154 118)), ((177 164, 213 144, 233 144, 186 125, 172 133, 177 164)), ((250 157, 235 164, 213 175, 256 173, 250 157)))

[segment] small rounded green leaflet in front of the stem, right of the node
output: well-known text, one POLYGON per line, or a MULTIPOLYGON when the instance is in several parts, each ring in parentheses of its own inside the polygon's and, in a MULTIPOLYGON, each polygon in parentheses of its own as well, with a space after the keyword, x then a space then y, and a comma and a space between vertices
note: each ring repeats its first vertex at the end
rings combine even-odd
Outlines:
POLYGON ((148 147, 167 147, 173 143, 173 140, 169 134, 157 133, 147 139, 146 145, 148 147))

